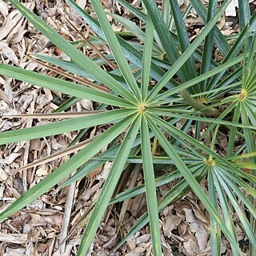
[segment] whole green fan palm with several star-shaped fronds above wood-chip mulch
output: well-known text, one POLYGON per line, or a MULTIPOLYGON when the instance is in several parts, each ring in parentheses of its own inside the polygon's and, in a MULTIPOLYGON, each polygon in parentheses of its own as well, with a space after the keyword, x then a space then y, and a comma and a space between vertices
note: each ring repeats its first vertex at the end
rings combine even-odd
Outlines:
POLYGON ((74 170, 78 171, 62 186, 78 181, 106 161, 113 161, 110 174, 86 225, 78 255, 85 255, 90 248, 107 206, 144 192, 146 192, 147 212, 142 214, 119 246, 150 222, 154 255, 161 255, 158 213, 184 197, 190 190, 194 191, 210 214, 212 254, 221 254, 221 232, 229 240, 234 255, 242 254, 234 230, 234 216, 231 209, 233 208, 238 215, 242 231, 250 241, 250 255, 254 255, 256 40, 253 31, 256 14, 250 15, 248 3, 239 2, 241 33, 230 46, 215 25, 230 0, 224 1, 218 10, 218 1, 211 0, 208 11, 201 1, 193 0, 183 14, 179 10, 177 0, 166 1, 162 6, 162 13, 153 0, 142 1, 144 12, 124 0, 119 0, 118 2, 146 23, 144 33, 134 23, 113 14, 113 18, 122 22, 122 25, 130 30, 130 34, 144 42, 144 46, 141 46, 126 42, 114 32, 99 0, 91 1, 98 20, 82 10, 75 2, 66 0, 97 35, 91 42, 107 43, 110 47, 112 55, 105 56, 101 61, 106 62, 106 58, 109 58, 107 62, 114 61, 118 68, 114 70, 116 72, 107 72, 102 70, 96 61, 82 54, 74 44, 64 40, 20 2, 17 0, 10 2, 42 34, 70 56, 72 62, 42 54, 35 54, 36 58, 60 66, 70 74, 90 78, 94 83, 88 83, 90 87, 81 86, 4 64, 0 64, 0 74, 69 94, 71 98, 58 111, 68 109, 80 98, 100 102, 102 105, 94 113, 90 112, 82 117, 6 131, 0 134, 0 144, 80 130, 74 140, 76 143, 81 138, 81 134, 90 127, 102 124, 113 124, 113 126, 22 194, 21 198, 2 211, 0 220, 33 202, 62 179, 69 177, 74 170), (184 23, 184 18, 192 6, 205 22, 204 30, 198 34, 194 42, 190 42, 184 23), (211 58, 214 43, 224 56, 222 63, 214 62, 211 58), (203 51, 199 50, 202 47, 203 51), (201 63, 200 70, 197 70, 196 62, 201 63), (174 79, 174 76, 177 79, 174 79), (150 86, 150 81, 155 81, 156 85, 150 86), (114 106, 114 110, 107 110, 107 106, 114 106), (225 106, 224 111, 220 110, 222 106, 225 106), (232 122, 226 121, 229 116, 233 117, 232 122), (186 122, 181 129, 178 129, 175 124, 181 118, 186 122), (196 124, 194 137, 186 133, 192 122, 196 124), (200 129, 201 122, 207 124, 207 129, 203 133, 200 129), (226 126, 230 130, 226 157, 222 157, 214 150, 220 126, 226 126), (125 130, 126 136, 122 142, 113 143, 108 150, 98 154, 125 130), (210 147, 202 143, 206 136, 210 136, 210 147), (234 150, 235 138, 238 137, 243 143, 238 150, 234 150), (161 157, 152 157, 151 139, 153 138, 154 142, 158 142, 158 146, 162 147, 164 153, 161 157), (246 154, 242 154, 244 151, 246 154), (94 157, 96 154, 97 157, 94 157), (246 158, 250 158, 250 162, 244 162, 246 158), (142 163, 145 184, 125 190, 112 198, 123 170, 130 163, 142 163), (174 168, 168 174, 155 178, 155 168, 166 166, 174 166, 174 168), (243 168, 250 168, 252 173, 244 172, 243 168), (208 194, 200 186, 203 179, 208 182, 208 194), (152 188, 174 180, 177 184, 164 197, 157 200, 156 190, 152 188), (250 194, 250 198, 247 194, 250 194), (250 212, 250 220, 243 213, 239 200, 250 212))

